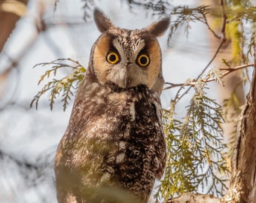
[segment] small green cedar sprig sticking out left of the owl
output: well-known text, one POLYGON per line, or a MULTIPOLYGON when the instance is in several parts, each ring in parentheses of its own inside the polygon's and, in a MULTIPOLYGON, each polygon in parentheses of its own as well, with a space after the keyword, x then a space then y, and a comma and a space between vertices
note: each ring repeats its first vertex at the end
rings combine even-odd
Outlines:
MULTIPOLYGON (((45 73, 41 76, 40 80, 38 81, 38 85, 50 76, 56 77, 56 73, 60 68, 71 68, 73 72, 66 77, 62 77, 61 79, 53 78, 53 80, 46 83, 41 91, 39 91, 38 94, 32 99, 30 106, 32 107, 32 105, 35 103, 35 108, 38 108, 39 98, 41 98, 41 96, 46 92, 50 92, 50 109, 53 109, 53 104, 56 98, 60 96, 62 98, 61 101, 63 110, 65 111, 67 105, 69 105, 71 96, 78 90, 81 81, 84 79, 85 68, 79 62, 75 62, 72 59, 56 59, 53 62, 44 62, 38 65, 43 67, 46 65, 51 66, 51 68, 45 71, 45 73)), ((35 67, 38 65, 35 65, 35 67)))

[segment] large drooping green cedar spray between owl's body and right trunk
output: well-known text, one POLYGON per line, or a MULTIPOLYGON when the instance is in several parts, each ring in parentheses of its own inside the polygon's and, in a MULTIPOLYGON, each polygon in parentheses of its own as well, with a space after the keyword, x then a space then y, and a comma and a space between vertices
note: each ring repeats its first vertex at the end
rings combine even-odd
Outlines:
POLYGON ((205 80, 197 80, 183 119, 179 120, 175 114, 175 101, 164 111, 168 156, 157 197, 161 193, 168 199, 199 189, 222 195, 226 188, 227 148, 222 140, 222 109, 206 95, 205 80))

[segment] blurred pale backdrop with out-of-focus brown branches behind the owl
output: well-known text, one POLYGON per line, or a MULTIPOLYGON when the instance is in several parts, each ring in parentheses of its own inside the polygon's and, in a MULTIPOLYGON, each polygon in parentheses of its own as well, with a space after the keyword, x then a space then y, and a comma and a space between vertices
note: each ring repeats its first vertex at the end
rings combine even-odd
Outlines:
MULTIPOLYGON (((30 108, 32 98, 46 83, 38 86, 38 80, 47 70, 46 66, 33 67, 41 62, 70 58, 86 68, 90 48, 100 35, 93 23, 93 8, 104 11, 116 26, 142 29, 160 17, 169 17, 177 5, 197 7, 213 2, 1 0, 0 202, 56 202, 53 158, 69 122, 74 98, 66 111, 60 99, 51 111, 47 94, 41 97, 38 110, 35 105, 30 108)), ((200 22, 190 23, 189 35, 178 29, 172 38, 169 39, 166 33, 159 41, 163 75, 169 83, 184 83, 187 78, 196 78, 217 46, 207 27, 200 22)), ((230 50, 222 54, 229 57, 230 50)), ((211 66, 218 66, 218 62, 211 66)), ((70 73, 63 69, 56 77, 70 73)), ((222 101, 227 93, 220 92, 213 84, 209 86, 210 94, 222 101)), ((163 91, 163 108, 169 108, 176 91, 163 91)), ((242 91, 239 98, 242 104, 244 90, 239 91, 242 91)), ((178 104, 180 117, 185 105, 186 99, 178 104)))

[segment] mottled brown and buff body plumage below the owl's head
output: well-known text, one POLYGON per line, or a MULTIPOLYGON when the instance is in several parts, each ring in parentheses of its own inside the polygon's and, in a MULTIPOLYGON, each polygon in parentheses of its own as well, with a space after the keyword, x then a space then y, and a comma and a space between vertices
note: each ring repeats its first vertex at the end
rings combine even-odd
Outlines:
POLYGON ((84 83, 78 95, 56 165, 82 171, 85 190, 106 182, 148 198, 166 158, 159 95, 112 83, 84 83))

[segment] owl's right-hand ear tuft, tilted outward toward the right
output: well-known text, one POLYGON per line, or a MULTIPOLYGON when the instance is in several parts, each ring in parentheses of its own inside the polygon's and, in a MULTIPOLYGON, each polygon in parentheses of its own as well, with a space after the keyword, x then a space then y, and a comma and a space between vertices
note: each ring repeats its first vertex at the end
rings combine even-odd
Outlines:
POLYGON ((169 27, 169 17, 165 17, 156 23, 152 23, 149 25, 145 30, 151 33, 151 35, 158 37, 163 36, 163 34, 166 32, 166 29, 169 27))

